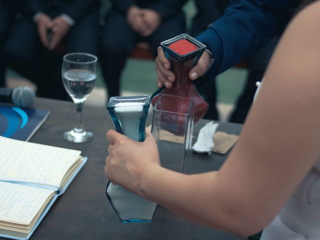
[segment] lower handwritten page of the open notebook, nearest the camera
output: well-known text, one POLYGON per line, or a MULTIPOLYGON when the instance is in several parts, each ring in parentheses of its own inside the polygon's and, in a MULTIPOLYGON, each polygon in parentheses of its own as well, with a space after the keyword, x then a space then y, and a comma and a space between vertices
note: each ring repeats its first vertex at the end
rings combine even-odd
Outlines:
POLYGON ((0 181, 0 220, 30 224, 53 190, 0 181))

